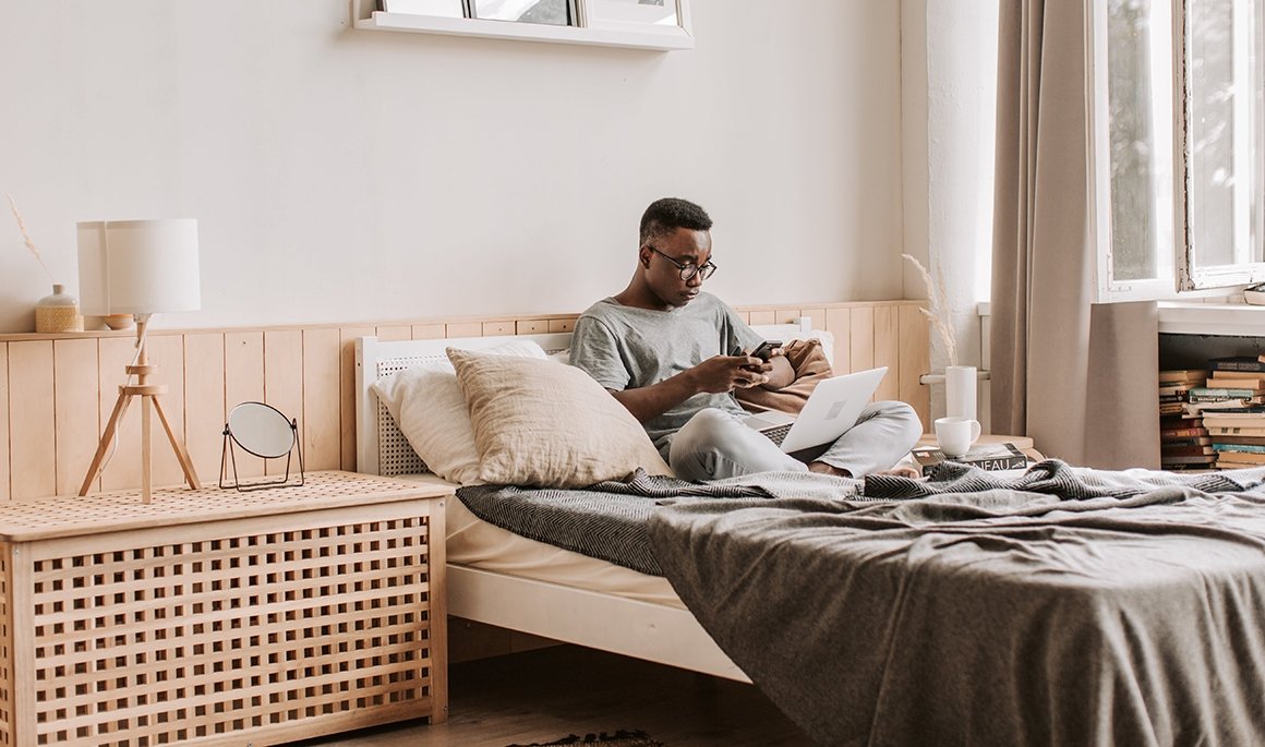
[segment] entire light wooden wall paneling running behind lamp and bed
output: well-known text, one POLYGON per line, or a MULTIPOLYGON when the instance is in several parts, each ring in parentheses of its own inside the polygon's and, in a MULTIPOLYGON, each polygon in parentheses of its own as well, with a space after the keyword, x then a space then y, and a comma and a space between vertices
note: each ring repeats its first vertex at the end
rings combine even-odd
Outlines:
MULTIPOLYGON (((917 379, 930 365, 929 329, 916 303, 764 306, 737 313, 749 324, 811 317, 815 329, 829 330, 835 337, 832 365, 836 372, 887 365, 894 373, 889 372, 875 397, 906 401, 926 421, 930 396, 917 379)), ((505 316, 466 317, 450 324, 423 321, 381 327, 321 325, 268 331, 158 334, 151 337, 151 356, 162 367, 158 380, 172 391, 163 401, 164 408, 177 427, 185 423, 185 442, 199 477, 210 484, 219 477, 220 431, 226 411, 245 401, 267 401, 299 418, 310 469, 355 468, 355 337, 377 335, 405 340, 564 332, 574 329, 576 319, 577 315, 509 320, 505 316), (338 436, 331 441, 328 434, 338 436)), ((133 343, 130 336, 115 335, 0 343, 0 499, 77 489, 72 483, 81 480, 81 470, 87 469, 90 451, 114 407, 118 386, 124 380, 124 365, 134 354, 133 343), (97 346, 95 365, 86 360, 86 351, 94 344, 97 346), (85 374, 85 370, 91 373, 85 374), (75 402, 94 389, 92 377, 97 399, 95 404, 89 402, 86 410, 92 412, 95 408, 96 422, 73 415, 83 411, 83 406, 75 402), (42 393, 46 388, 52 388, 53 393, 42 393), (52 446, 47 446, 49 441, 52 446), (46 444, 43 451, 33 446, 38 444, 46 444), (35 466, 42 452, 47 474, 35 466), (3 458, 5 454, 8 459, 3 458)), ((139 484, 139 408, 133 410, 123 423, 115 454, 99 488, 139 484)), ((154 434, 156 483, 178 483, 178 464, 157 423, 154 434), (164 471, 168 469, 170 473, 164 471)), ((263 474, 261 459, 240 450, 238 456, 239 477, 249 479, 263 474)), ((283 469, 285 465, 278 465, 276 471, 283 469)))

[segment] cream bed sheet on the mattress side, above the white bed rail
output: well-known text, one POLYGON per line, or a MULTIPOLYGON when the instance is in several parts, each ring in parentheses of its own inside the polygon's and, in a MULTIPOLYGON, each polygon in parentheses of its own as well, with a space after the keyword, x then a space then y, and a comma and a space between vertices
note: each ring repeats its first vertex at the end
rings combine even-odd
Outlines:
MULTIPOLYGON (((400 479, 458 487, 433 474, 400 475, 400 479)), ((444 521, 447 523, 444 550, 449 564, 664 607, 686 608, 672 589, 672 584, 663 576, 646 575, 515 535, 478 518, 458 498, 448 502, 444 521)))

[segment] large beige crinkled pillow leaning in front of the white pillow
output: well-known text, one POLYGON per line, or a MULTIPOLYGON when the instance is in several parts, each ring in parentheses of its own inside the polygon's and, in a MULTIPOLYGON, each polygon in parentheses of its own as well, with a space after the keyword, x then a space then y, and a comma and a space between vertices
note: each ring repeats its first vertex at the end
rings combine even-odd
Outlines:
POLYGON ((641 423, 584 372, 454 348, 448 358, 469 407, 482 482, 583 488, 639 466, 672 474, 641 423))

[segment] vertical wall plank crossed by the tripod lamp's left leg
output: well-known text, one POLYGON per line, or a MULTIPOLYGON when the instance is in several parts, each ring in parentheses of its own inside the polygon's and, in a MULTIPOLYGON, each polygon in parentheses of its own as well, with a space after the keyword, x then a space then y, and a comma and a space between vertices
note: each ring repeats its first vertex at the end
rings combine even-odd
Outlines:
MULTIPOLYGON (((151 339, 151 343, 153 340, 151 339)), ((147 344, 147 349, 149 344, 147 344)), ((128 382, 128 365, 137 354, 135 337, 101 337, 97 340, 97 388, 101 391, 101 399, 97 417, 104 425, 110 420, 114 403, 119 399, 119 387, 128 382)), ((152 358, 152 356, 151 356, 152 358)), ((170 370, 159 372, 167 377, 170 370)), ((132 378, 135 382, 135 377, 132 378)), ((163 378, 163 382, 167 379, 163 378)), ((116 490, 132 488, 140 484, 140 401, 133 399, 128 404, 128 412, 119 421, 119 427, 114 434, 114 442, 105 452, 105 466, 101 469, 99 487, 101 490, 116 490)), ((162 434, 162 425, 154 418, 156 434, 162 434)), ((166 437, 166 436, 163 436, 166 437)), ((85 471, 89 465, 83 465, 85 471)), ((154 484, 161 484, 154 482, 154 484)))

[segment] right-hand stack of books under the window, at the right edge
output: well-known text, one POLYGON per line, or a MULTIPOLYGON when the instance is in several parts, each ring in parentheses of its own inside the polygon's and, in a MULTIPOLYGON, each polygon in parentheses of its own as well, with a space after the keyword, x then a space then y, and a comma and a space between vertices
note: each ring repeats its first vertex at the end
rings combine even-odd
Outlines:
POLYGON ((1207 388, 1223 404, 1203 411, 1218 469, 1265 465, 1265 360, 1214 358, 1207 388))

